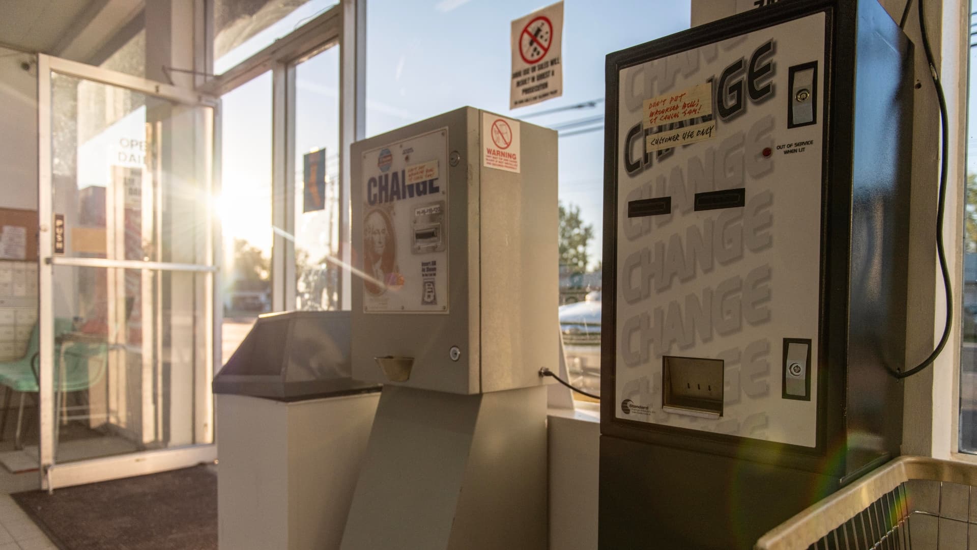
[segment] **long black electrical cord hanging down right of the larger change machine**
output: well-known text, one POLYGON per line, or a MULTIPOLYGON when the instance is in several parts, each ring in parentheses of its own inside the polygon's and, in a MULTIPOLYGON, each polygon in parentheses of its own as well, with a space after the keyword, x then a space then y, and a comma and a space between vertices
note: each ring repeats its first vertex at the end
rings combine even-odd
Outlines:
MULTIPOLYGON (((900 26, 905 26, 906 16, 909 14, 910 5, 913 0, 907 0, 906 10, 903 12, 903 21, 900 26)), ((940 77, 936 71, 936 62, 933 61, 933 50, 929 44, 929 37, 926 35, 926 20, 923 17, 923 6, 922 0, 916 1, 916 7, 919 12, 919 34, 922 37, 923 50, 926 53, 926 63, 929 64, 929 74, 933 78, 933 86, 936 88, 936 97, 940 102, 940 198, 939 203, 936 206, 936 252, 940 258, 940 271, 943 273, 943 288, 945 289, 945 295, 947 298, 947 320, 943 326, 943 336, 940 338, 940 343, 936 345, 933 352, 929 354, 921 363, 913 367, 912 369, 902 372, 899 370, 892 370, 890 367, 889 372, 892 376, 903 379, 913 376, 914 374, 922 371, 929 365, 933 363, 937 356, 943 351, 943 348, 947 345, 950 340, 950 330, 954 322, 954 292, 951 288, 950 283, 950 269, 947 268, 947 254, 943 246, 943 217, 944 210, 946 209, 945 203, 947 198, 947 164, 948 152, 950 149, 950 139, 948 135, 949 122, 947 120, 947 99, 943 94, 943 85, 940 83, 940 77)))

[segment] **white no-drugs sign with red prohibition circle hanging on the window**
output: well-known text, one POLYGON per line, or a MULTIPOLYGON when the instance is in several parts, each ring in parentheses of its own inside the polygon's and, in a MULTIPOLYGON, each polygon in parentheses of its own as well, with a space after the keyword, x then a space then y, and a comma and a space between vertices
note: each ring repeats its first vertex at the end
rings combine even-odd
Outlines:
POLYGON ((509 109, 563 95, 563 2, 512 22, 509 109))

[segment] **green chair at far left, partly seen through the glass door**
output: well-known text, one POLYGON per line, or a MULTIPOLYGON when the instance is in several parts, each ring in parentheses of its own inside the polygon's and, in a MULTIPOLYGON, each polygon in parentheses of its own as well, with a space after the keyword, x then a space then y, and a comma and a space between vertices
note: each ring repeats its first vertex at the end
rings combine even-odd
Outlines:
MULTIPOLYGON (((84 333, 74 333, 72 329, 73 323, 71 320, 63 318, 55 319, 54 376, 56 419, 61 412, 61 397, 63 393, 88 390, 92 385, 98 383, 105 376, 106 372, 107 344, 105 338, 96 335, 86 335, 84 333), (97 369, 95 373, 89 371, 93 363, 91 359, 93 358, 102 359, 95 362, 97 369), (92 376, 93 374, 94 376, 92 376)), ((6 387, 4 410, 2 418, 0 418, 0 440, 3 439, 3 434, 7 426, 11 393, 12 391, 20 391, 21 404, 18 409, 17 433, 14 442, 15 448, 18 449, 22 448, 21 427, 23 423, 24 395, 28 392, 36 393, 39 390, 39 339, 38 325, 35 324, 34 329, 30 333, 26 353, 20 359, 0 362, 0 385, 6 387)), ((34 400, 35 404, 39 402, 36 397, 34 400)))

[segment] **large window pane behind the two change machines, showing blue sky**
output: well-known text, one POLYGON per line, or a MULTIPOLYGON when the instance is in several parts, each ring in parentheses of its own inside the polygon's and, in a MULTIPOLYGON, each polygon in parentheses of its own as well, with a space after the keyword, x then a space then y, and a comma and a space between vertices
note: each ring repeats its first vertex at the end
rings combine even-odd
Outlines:
POLYGON ((561 327, 571 379, 592 391, 600 388, 605 56, 689 26, 688 0, 656 3, 654 18, 636 17, 649 6, 639 0, 567 2, 563 97, 510 111, 510 23, 540 5, 366 5, 367 136, 466 105, 560 132, 561 327))

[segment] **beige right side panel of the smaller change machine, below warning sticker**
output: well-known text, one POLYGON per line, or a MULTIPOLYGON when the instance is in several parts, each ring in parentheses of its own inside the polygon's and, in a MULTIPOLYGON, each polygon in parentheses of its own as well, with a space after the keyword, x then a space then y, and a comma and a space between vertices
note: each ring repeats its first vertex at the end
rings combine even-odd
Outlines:
POLYGON ((559 360, 557 136, 520 126, 522 172, 481 168, 483 391, 539 385, 559 360))

